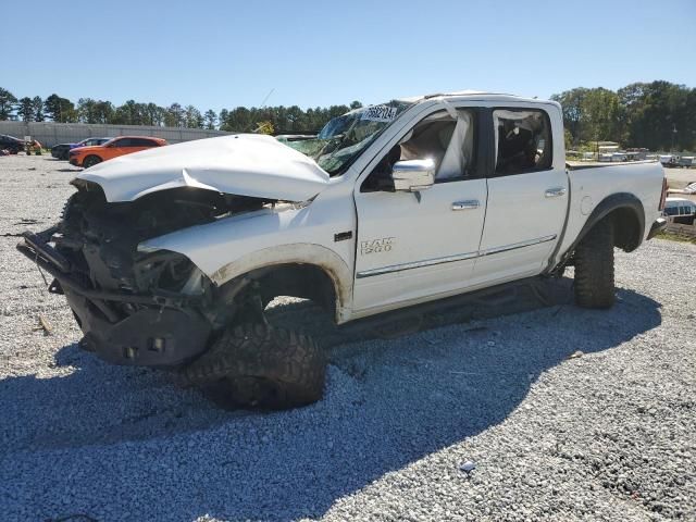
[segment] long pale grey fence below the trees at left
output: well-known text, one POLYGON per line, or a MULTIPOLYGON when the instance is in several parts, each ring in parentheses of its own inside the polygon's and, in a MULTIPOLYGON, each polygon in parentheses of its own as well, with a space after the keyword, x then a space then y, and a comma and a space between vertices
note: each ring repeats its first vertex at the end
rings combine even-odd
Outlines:
POLYGON ((9 134, 23 139, 32 136, 44 147, 58 144, 74 144, 85 138, 115 136, 152 136, 164 138, 170 144, 190 141, 191 139, 211 138, 229 133, 208 130, 203 128, 151 127, 146 125, 102 125, 91 123, 53 123, 53 122, 0 122, 0 134, 9 134))

